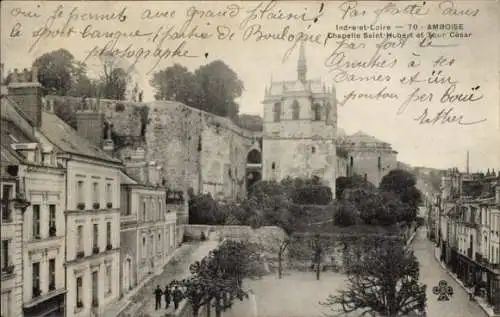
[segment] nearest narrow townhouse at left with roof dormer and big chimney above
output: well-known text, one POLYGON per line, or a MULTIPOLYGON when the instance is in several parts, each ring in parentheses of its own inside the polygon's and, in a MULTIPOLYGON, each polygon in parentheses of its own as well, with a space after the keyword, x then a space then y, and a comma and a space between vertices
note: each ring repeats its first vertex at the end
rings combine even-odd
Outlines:
POLYGON ((11 75, 7 95, 2 96, 3 152, 11 162, 10 174, 17 178, 18 195, 26 204, 20 221, 22 303, 24 316, 61 316, 65 304, 66 173, 57 149, 43 132, 42 87, 36 71, 17 70, 11 75))

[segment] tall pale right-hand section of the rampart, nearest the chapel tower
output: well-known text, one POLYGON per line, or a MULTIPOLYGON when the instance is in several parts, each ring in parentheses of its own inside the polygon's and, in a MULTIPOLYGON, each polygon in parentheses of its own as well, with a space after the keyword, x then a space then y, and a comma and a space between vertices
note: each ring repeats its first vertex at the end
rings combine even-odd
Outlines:
POLYGON ((180 103, 152 103, 150 115, 146 157, 163 166, 167 186, 185 190, 187 182, 186 188, 195 193, 232 198, 245 194, 252 133, 180 103))

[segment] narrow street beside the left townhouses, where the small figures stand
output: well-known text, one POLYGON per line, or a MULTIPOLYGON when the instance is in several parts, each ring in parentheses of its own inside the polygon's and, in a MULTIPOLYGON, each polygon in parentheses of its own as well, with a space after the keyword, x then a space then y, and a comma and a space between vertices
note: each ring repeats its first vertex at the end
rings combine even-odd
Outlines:
MULTIPOLYGON (((136 316, 138 312, 148 313, 151 316, 164 316, 167 310, 154 310, 155 300, 153 292, 156 285, 164 288, 171 280, 180 280, 189 276, 189 265, 201 260, 208 252, 215 249, 218 244, 219 241, 215 240, 203 241, 197 244, 183 244, 172 253, 163 270, 152 274, 118 302, 106 307, 101 316, 136 316), (173 259, 175 260, 172 261, 173 259)), ((163 301, 162 305, 164 305, 163 301)), ((173 308, 170 308, 168 312, 172 310, 173 308)))

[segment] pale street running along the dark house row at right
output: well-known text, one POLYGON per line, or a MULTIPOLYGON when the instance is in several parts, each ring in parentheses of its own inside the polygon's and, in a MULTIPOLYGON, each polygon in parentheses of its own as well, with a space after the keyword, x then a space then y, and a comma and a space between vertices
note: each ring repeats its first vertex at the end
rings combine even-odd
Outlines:
POLYGON ((427 284, 427 316, 428 317, 486 317, 478 304, 469 300, 465 290, 443 270, 434 258, 434 244, 426 237, 425 229, 418 230, 413 241, 415 255, 420 262, 420 281, 427 284), (449 301, 438 301, 432 288, 440 280, 445 280, 453 287, 453 296, 449 301))

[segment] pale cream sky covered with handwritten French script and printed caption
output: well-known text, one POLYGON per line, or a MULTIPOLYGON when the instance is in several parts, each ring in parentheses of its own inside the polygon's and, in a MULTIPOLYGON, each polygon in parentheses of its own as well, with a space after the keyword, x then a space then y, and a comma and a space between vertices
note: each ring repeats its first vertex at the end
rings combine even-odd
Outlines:
POLYGON ((464 170, 469 150, 472 171, 500 170, 498 1, 2 1, 1 7, 6 70, 30 67, 36 57, 64 48, 85 60, 91 76, 98 76, 102 64, 92 55, 107 44, 122 51, 128 47, 130 56, 120 60, 150 101, 154 91, 149 80, 155 71, 174 63, 194 71, 220 59, 243 81, 240 113, 249 114, 263 114, 271 81, 297 79, 296 40, 307 38, 307 76, 335 88, 338 126, 347 134, 361 130, 388 142, 398 151, 398 160, 414 166, 464 170), (99 20, 103 15, 109 20, 99 20), (432 31, 436 37, 426 46, 418 33, 428 40, 429 24, 455 30, 432 31), (183 25, 186 36, 193 28, 196 36, 173 38, 172 32, 180 32, 183 25), (358 29, 341 30, 345 26, 358 29), (211 37, 201 39, 203 32, 211 37), (380 32, 411 37, 365 38, 380 32), (451 38, 452 32, 463 37, 451 38), (361 38, 338 38, 353 34, 361 38), (177 55, 184 56, 168 56, 179 46, 177 55), (359 67, 363 62, 365 67, 359 67), (433 71, 445 83, 426 82, 435 77, 433 71), (412 102, 404 106, 415 90, 412 102), (385 98, 376 98, 380 91, 385 98), (449 111, 446 117, 454 122, 422 123, 441 110, 449 111), (459 124, 461 115, 462 123, 481 122, 459 124))

